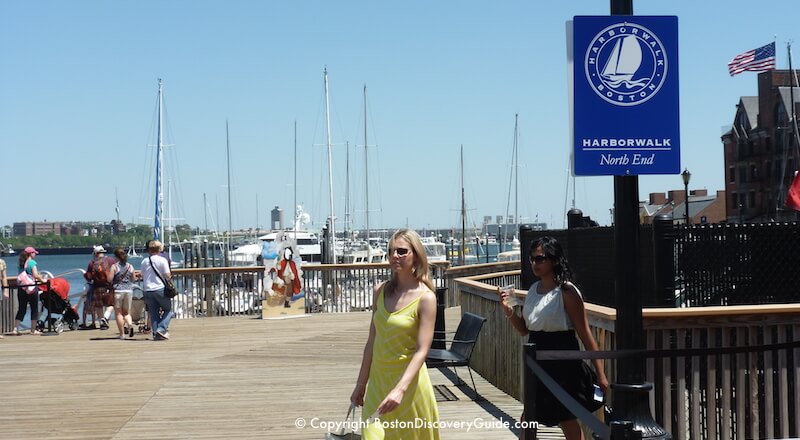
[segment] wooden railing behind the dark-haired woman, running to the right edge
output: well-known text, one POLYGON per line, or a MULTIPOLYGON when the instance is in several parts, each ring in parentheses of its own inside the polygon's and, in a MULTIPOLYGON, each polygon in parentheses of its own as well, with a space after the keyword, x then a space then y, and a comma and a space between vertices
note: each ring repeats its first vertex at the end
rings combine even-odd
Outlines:
MULTIPOLYGON (((509 273, 453 280, 462 312, 487 317, 472 366, 489 382, 521 397, 522 342, 499 306, 497 285, 509 273)), ((518 291, 524 297, 525 292, 518 291)), ((601 350, 614 350, 616 312, 586 304, 601 350)), ((755 347, 741 354, 648 359, 655 420, 683 439, 788 438, 800 436, 800 349, 759 346, 800 340, 800 304, 644 309, 648 349, 755 347)), ((616 377, 615 361, 605 362, 616 377)))

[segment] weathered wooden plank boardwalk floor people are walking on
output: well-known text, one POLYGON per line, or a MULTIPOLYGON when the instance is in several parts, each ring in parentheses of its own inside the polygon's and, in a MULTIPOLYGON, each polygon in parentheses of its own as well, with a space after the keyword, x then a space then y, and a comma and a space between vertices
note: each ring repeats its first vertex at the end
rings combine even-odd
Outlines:
MULTIPOLYGON (((448 329, 459 313, 447 311, 448 329)), ((6 336, 0 438, 321 439, 326 429, 311 427, 312 418, 344 417, 368 319, 176 320, 166 342, 139 334, 120 341, 100 330, 6 336)), ((475 375, 486 401, 473 402, 452 374, 432 369, 431 376, 458 398, 439 403, 441 420, 463 424, 442 429, 443 439, 516 438, 497 422, 517 420, 515 399, 475 375), (468 430, 468 422, 491 426, 468 430)))

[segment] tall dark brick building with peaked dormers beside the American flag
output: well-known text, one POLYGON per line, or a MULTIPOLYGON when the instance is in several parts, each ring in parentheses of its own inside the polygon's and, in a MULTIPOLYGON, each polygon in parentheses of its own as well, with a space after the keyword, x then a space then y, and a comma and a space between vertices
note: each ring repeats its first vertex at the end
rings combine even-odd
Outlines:
POLYGON ((771 70, 758 75, 758 96, 739 98, 733 126, 722 135, 728 222, 797 219, 794 210, 784 208, 800 165, 797 137, 790 125, 790 103, 795 114, 800 103, 796 84, 789 70, 771 70))

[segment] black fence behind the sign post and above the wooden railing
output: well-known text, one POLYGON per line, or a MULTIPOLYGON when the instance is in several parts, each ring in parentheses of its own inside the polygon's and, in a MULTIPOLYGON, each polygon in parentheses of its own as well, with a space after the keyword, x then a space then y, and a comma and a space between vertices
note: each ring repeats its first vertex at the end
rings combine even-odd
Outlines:
MULTIPOLYGON (((576 284, 594 304, 615 306, 613 227, 536 231, 520 227, 521 288, 535 281, 530 246, 549 235, 564 247, 576 284)), ((644 307, 800 302, 800 223, 674 225, 656 219, 639 229, 644 307)))

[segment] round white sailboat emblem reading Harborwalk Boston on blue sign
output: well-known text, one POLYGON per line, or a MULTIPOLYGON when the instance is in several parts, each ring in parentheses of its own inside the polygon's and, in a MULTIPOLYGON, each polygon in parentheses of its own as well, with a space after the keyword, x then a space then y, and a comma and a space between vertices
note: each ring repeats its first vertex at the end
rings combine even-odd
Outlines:
POLYGON ((667 53, 646 27, 617 23, 592 39, 584 68, 598 96, 614 105, 635 106, 661 89, 667 77, 667 53))

